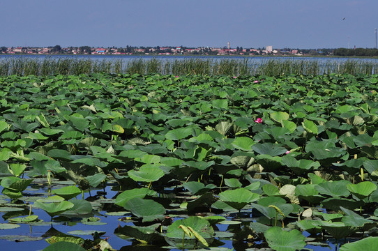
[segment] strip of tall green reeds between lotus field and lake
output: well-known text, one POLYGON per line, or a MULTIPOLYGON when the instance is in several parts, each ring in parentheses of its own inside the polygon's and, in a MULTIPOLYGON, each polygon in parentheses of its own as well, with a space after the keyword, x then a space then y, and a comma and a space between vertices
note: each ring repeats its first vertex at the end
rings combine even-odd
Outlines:
POLYGON ((314 59, 132 59, 130 61, 46 57, 14 57, 0 60, 0 75, 80 75, 89 73, 130 73, 163 75, 323 75, 377 74, 378 61, 314 59))

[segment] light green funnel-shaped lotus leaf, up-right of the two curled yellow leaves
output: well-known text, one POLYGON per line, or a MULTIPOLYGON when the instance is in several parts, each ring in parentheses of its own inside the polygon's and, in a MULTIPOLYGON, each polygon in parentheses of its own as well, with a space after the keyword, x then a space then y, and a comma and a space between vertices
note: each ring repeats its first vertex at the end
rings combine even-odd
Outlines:
POLYGON ((236 210, 241 211, 245 205, 257 201, 259 199, 259 195, 246 190, 245 188, 237 188, 234 190, 226 190, 224 192, 220 192, 219 199, 229 206, 232 206, 236 210))

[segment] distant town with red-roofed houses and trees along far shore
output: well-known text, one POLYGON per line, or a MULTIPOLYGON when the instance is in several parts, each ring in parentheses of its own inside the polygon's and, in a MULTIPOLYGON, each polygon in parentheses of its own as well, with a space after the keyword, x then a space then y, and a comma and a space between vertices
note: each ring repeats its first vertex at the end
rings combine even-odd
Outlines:
POLYGON ((93 54, 93 55, 320 55, 333 54, 333 49, 300 50, 300 49, 273 49, 273 46, 263 48, 232 48, 226 47, 0 47, 1 54, 93 54))

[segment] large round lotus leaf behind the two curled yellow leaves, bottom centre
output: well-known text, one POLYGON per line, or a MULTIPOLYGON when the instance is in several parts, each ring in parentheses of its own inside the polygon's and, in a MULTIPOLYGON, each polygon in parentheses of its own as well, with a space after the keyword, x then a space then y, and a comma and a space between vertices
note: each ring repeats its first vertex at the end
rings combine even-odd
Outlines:
POLYGON ((204 218, 190 216, 183 220, 176 220, 168 227, 165 241, 167 241, 169 245, 173 245, 179 249, 192 249, 195 247, 195 244, 198 243, 198 248, 207 248, 194 234, 192 234, 192 236, 184 234, 183 228, 180 226, 190 227, 197 232, 199 236, 204 238, 208 244, 211 244, 214 240, 214 229, 211 227, 210 223, 204 218))

